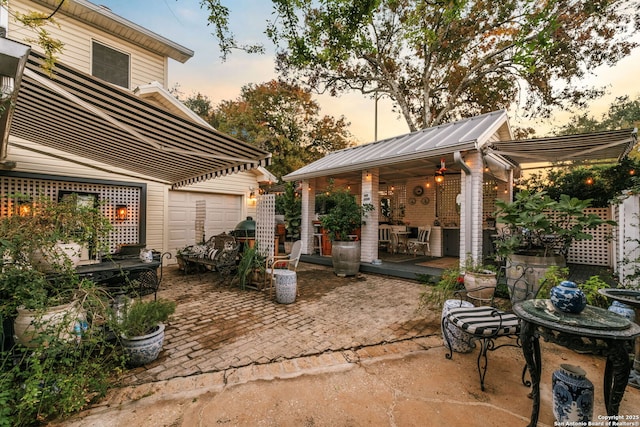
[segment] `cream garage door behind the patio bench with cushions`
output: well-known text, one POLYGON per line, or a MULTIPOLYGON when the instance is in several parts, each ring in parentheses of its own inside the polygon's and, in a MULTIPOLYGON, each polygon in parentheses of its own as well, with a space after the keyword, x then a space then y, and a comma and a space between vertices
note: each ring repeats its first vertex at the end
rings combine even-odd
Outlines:
POLYGON ((202 241, 199 235, 203 228, 198 224, 204 216, 204 234, 208 239, 214 234, 230 232, 242 217, 242 196, 228 194, 197 193, 188 191, 169 192, 169 250, 202 241))

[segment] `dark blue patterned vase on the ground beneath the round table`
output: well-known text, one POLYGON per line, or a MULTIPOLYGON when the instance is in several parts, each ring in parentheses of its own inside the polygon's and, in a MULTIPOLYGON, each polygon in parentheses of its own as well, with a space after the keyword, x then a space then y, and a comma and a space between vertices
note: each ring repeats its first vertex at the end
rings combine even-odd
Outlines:
MULTIPOLYGON (((560 365, 551 376, 553 415, 561 425, 588 423, 593 417, 593 384, 579 366, 560 365)), ((578 424, 576 424, 578 425, 578 424)))

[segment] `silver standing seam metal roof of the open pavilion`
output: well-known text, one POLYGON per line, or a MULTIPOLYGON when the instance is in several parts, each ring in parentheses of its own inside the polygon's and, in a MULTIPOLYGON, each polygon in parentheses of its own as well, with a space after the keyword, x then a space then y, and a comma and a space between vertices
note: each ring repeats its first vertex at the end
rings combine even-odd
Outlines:
POLYGON ((288 175, 285 181, 317 178, 416 160, 455 151, 477 149, 502 126, 508 126, 504 110, 419 130, 327 154, 288 175))

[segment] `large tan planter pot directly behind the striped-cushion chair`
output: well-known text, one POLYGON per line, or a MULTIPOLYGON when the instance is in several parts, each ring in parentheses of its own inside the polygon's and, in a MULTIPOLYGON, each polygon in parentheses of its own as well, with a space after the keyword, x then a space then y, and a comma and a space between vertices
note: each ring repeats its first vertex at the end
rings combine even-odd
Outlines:
POLYGON ((540 290, 540 280, 552 266, 566 267, 562 255, 511 255, 507 259, 507 288, 512 301, 534 298, 540 290))

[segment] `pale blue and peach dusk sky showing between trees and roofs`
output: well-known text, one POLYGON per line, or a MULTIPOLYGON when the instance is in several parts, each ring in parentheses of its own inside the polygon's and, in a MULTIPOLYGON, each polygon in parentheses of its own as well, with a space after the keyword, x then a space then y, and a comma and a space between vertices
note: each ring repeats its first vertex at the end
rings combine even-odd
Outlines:
MULTIPOLYGON (((273 45, 263 34, 265 21, 271 17, 271 2, 268 0, 228 0, 223 2, 231 8, 231 30, 240 43, 264 41, 266 54, 246 54, 236 51, 226 62, 220 59, 217 41, 207 26, 208 11, 200 8, 199 0, 93 0, 109 7, 114 13, 141 25, 163 37, 179 43, 195 52, 185 64, 170 61, 169 86, 179 84, 184 96, 200 92, 214 104, 236 99, 242 86, 248 83, 263 83, 276 78, 273 63, 273 45)), ((640 35, 636 36, 640 40, 640 35)), ((600 117, 616 96, 640 94, 638 70, 640 50, 620 61, 615 68, 598 70, 587 83, 606 85, 610 95, 594 103, 591 114, 600 117)), ((322 114, 335 117, 344 115, 351 122, 351 133, 359 143, 374 139, 375 105, 372 99, 352 93, 340 97, 317 96, 322 114)), ((517 112, 510 112, 512 126, 532 126, 537 136, 545 136, 553 125, 561 125, 570 115, 557 114, 554 120, 541 124, 524 122, 517 112)), ((391 111, 391 103, 383 98, 378 104, 378 139, 408 132, 404 119, 391 111)))

